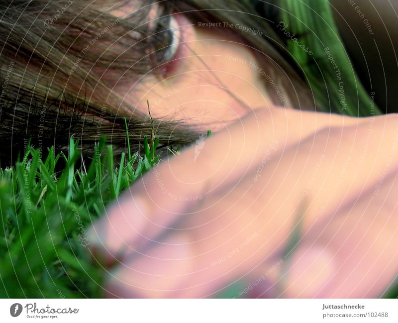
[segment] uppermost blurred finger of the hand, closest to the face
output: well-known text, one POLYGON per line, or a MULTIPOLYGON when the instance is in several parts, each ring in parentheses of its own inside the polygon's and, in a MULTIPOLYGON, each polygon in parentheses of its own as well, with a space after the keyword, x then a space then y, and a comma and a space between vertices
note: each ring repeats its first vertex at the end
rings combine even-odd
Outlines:
POLYGON ((317 128, 356 122, 323 113, 258 110, 210 137, 199 152, 193 146, 144 176, 90 230, 91 244, 112 256, 134 251, 204 196, 239 182, 261 164, 265 151, 272 158, 317 128))

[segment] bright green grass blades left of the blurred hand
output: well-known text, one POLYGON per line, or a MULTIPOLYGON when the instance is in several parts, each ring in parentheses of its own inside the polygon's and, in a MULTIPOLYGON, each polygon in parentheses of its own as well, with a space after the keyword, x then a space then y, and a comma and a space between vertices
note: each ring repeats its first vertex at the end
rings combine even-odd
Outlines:
MULTIPOLYGON (((128 138, 128 136, 127 136, 128 138)), ((158 139, 144 138, 144 154, 121 154, 115 167, 105 138, 86 168, 78 141, 69 154, 42 160, 27 144, 14 167, 0 169, 0 298, 98 298, 105 269, 88 252, 86 227, 109 202, 159 160, 158 139), (60 174, 56 165, 64 159, 60 174)))

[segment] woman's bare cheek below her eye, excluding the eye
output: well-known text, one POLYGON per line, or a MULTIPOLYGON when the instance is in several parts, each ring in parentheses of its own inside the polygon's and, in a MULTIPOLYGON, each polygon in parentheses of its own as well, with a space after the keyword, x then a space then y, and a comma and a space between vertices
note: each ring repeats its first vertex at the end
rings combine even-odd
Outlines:
POLYGON ((259 66, 247 47, 206 40, 191 48, 198 56, 185 58, 176 75, 167 80, 151 76, 135 89, 134 102, 140 111, 148 113, 149 100, 155 118, 184 120, 200 124, 204 131, 217 131, 253 108, 268 106, 264 81, 256 70, 259 66))

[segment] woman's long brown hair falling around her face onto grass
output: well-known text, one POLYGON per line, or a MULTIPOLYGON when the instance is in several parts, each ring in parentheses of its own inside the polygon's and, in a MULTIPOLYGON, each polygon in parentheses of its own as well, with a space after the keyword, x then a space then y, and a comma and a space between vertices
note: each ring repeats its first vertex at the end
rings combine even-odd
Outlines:
MULTIPOLYGON (((131 85, 153 70, 153 56, 147 49, 161 41, 161 34, 152 35, 147 22, 150 4, 155 1, 136 1, 139 8, 126 19, 109 13, 110 8, 126 1, 7 2, 8 7, 3 4, 0 9, 2 166, 15 160, 27 138, 43 150, 51 145, 65 150, 74 134, 89 155, 94 141, 106 135, 118 153, 126 145, 124 116, 130 144, 138 150, 143 136, 151 134, 150 119, 140 112, 129 112, 132 107, 112 88, 116 83, 131 85)), ((165 8, 164 15, 176 10, 193 20, 227 21, 261 30, 262 35, 239 29, 234 32, 241 35, 260 62, 269 62, 267 72, 281 89, 298 93, 291 98, 293 106, 304 100, 311 107, 308 89, 289 61, 281 38, 244 1, 157 3, 165 8), (290 91, 292 88, 295 90, 290 91)), ((198 137, 184 120, 155 120, 155 130, 161 147, 186 145, 198 137)))

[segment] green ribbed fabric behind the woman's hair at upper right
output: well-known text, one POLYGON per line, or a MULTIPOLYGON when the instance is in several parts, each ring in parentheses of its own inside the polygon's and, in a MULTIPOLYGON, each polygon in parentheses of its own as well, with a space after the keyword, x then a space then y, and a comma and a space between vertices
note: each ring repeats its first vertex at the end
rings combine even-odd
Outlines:
POLYGON ((354 71, 328 1, 280 0, 279 6, 289 37, 287 49, 303 70, 317 109, 355 116, 380 114, 354 71), (308 53, 298 44, 308 47, 308 53))

